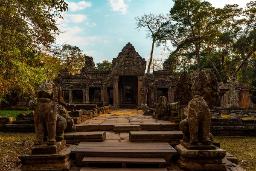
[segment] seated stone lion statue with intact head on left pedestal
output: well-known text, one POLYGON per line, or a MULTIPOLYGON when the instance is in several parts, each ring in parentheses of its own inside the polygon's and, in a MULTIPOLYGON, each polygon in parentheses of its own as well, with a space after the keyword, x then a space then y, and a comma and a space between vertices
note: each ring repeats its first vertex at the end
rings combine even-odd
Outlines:
POLYGON ((56 140, 64 140, 64 129, 67 121, 57 114, 57 90, 55 84, 45 80, 39 85, 38 103, 35 108, 35 145, 41 145, 47 141, 48 145, 54 145, 56 140), (56 137, 56 138, 55 138, 56 137))

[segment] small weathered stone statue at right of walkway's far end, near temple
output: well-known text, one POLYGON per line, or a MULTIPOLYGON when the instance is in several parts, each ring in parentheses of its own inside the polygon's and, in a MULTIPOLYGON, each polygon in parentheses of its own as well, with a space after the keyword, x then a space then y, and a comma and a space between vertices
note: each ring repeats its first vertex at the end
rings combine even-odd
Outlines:
POLYGON ((160 96, 158 98, 158 103, 156 105, 155 114, 157 119, 163 118, 166 114, 168 114, 168 101, 165 96, 160 96))

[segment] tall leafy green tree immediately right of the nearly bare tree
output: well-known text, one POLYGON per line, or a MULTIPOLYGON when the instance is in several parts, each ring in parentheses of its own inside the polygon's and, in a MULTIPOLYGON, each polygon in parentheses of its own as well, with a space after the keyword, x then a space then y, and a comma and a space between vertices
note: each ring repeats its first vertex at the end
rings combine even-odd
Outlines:
MULTIPOLYGON (((211 3, 201 0, 173 0, 170 10, 172 20, 176 22, 176 47, 194 46, 198 67, 201 67, 201 48, 205 29, 212 17, 214 8, 211 3)), ((174 44, 174 45, 175 45, 174 44)))

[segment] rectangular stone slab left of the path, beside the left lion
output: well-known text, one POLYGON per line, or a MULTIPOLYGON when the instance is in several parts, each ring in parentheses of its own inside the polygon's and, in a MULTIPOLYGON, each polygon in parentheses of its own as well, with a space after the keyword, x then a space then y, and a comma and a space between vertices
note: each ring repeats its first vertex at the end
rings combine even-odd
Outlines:
POLYGON ((64 133, 67 144, 79 144, 81 141, 100 142, 106 139, 106 132, 68 132, 64 133))

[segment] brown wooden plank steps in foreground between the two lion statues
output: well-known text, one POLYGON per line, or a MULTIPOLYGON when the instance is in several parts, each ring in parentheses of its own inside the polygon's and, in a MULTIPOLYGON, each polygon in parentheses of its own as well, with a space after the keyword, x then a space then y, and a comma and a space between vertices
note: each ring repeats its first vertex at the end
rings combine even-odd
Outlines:
MULTIPOLYGON (((96 166, 99 168, 110 164, 119 168, 127 168, 134 167, 132 165, 135 164, 138 168, 151 165, 151 168, 156 169, 170 164, 172 155, 177 154, 177 151, 169 143, 81 142, 72 153, 76 155, 78 167, 96 166)), ((90 168, 82 170, 88 169, 90 168)))

